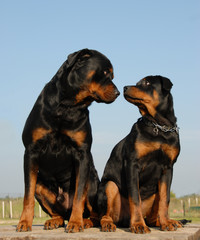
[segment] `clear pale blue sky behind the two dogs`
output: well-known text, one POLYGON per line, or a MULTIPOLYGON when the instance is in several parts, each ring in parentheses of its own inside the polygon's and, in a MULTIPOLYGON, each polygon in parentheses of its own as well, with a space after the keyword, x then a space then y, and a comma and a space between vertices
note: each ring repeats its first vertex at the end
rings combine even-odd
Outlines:
MULTIPOLYGON (((200 1, 1 0, 0 30, 0 195, 23 193, 25 120, 68 54, 82 48, 111 60, 121 93, 147 75, 171 79, 182 148, 172 190, 200 193, 200 1)), ((123 94, 90 107, 100 177, 139 117, 123 94)))

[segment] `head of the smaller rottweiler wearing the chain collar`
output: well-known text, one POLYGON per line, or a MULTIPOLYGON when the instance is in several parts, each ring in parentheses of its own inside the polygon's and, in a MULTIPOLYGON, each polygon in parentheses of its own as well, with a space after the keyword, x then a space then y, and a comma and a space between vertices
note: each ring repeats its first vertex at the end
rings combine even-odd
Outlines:
POLYGON ((140 80, 136 86, 125 86, 125 99, 138 106, 142 116, 155 117, 157 113, 165 116, 173 110, 170 90, 172 83, 162 76, 148 76, 140 80))

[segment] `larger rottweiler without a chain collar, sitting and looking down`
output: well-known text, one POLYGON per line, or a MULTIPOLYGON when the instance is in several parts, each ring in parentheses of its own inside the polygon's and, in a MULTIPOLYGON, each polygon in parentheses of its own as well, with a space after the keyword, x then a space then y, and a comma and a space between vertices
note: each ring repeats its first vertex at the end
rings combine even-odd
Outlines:
POLYGON ((68 56, 39 95, 24 127, 25 195, 17 231, 29 231, 34 195, 52 219, 44 228, 82 231, 96 220, 99 179, 94 167, 88 106, 119 95, 113 67, 95 50, 68 56), (90 216, 89 219, 83 220, 90 216))

